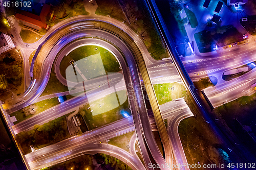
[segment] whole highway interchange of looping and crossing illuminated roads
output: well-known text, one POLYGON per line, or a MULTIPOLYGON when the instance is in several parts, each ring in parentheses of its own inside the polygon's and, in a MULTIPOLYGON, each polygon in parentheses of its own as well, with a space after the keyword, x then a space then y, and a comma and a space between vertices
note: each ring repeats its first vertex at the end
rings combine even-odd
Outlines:
MULTIPOLYGON (((42 70, 39 72, 37 71, 37 75, 34 76, 35 78, 38 78, 35 81, 35 85, 33 86, 33 90, 29 92, 29 94, 26 95, 25 98, 22 99, 22 101, 13 101, 13 103, 17 103, 16 105, 13 105, 13 107, 9 108, 6 110, 6 113, 12 113, 16 110, 19 110, 21 108, 24 108, 34 102, 37 102, 40 94, 42 91, 44 91, 44 88, 47 85, 48 79, 49 79, 49 73, 51 71, 51 67, 53 64, 53 61, 56 56, 60 56, 61 54, 58 54, 59 51, 63 52, 65 54, 65 51, 62 51, 63 47, 68 44, 70 41, 74 40, 75 38, 79 37, 88 37, 84 38, 79 41, 74 41, 73 43, 70 43, 69 45, 74 45, 77 46, 79 44, 100 44, 104 46, 105 48, 109 49, 113 54, 116 55, 118 58, 118 61, 120 62, 120 65, 122 66, 122 71, 123 75, 113 75, 113 84, 116 85, 116 89, 118 90, 123 90, 128 88, 127 90, 133 91, 134 94, 138 94, 138 96, 142 96, 141 94, 141 88, 136 85, 140 85, 140 80, 139 80, 139 73, 137 72, 138 68, 135 64, 136 61, 134 61, 133 54, 130 52, 129 48, 127 48, 126 44, 122 42, 117 36, 112 36, 110 32, 106 32, 103 30, 95 29, 92 28, 91 26, 93 25, 92 22, 95 22, 95 20, 103 21, 103 22, 110 22, 112 25, 115 25, 122 30, 125 31, 128 35, 130 35, 134 40, 136 45, 138 45, 138 48, 140 49, 142 56, 144 58, 145 64, 147 66, 148 74, 151 78, 151 81, 153 84, 159 84, 159 83, 165 83, 165 82, 182 82, 180 76, 178 75, 178 72, 175 68, 175 65, 173 65, 170 60, 164 60, 164 61, 155 61, 153 58, 151 58, 150 54, 148 54, 144 44, 142 41, 137 37, 137 35, 129 29, 127 26, 123 25, 119 21, 116 21, 112 18, 108 17, 103 17, 103 16, 98 16, 98 18, 90 18, 90 16, 78 16, 74 18, 69 18, 63 22, 60 22, 59 24, 55 25, 53 29, 50 29, 47 34, 41 38, 38 42, 35 44, 29 44, 29 47, 26 47, 26 44, 20 42, 18 39, 17 42, 20 42, 18 47, 25 49, 21 50, 23 52, 23 55, 25 57, 25 82, 27 85, 30 84, 30 76, 29 75, 29 64, 28 60, 26 57, 29 57, 29 52, 34 51, 34 49, 37 49, 40 43, 44 42, 45 39, 53 32, 53 30, 56 30, 56 28, 61 28, 59 29, 58 32, 54 35, 54 38, 51 38, 49 40, 49 43, 44 46, 44 51, 41 52, 41 54, 38 55, 37 61, 40 63, 44 62, 44 66, 42 67, 42 70), (76 22, 79 20, 79 22, 76 22), (93 21, 92 21, 93 20, 93 21), (74 22, 74 23, 72 23, 74 22), (67 25, 68 26, 65 26, 67 25), (64 27, 65 26, 65 27, 64 27), (87 29, 88 27, 88 29, 87 29), (73 29, 73 30, 72 30, 73 29), (72 32, 70 32, 72 30, 72 32), (76 31, 74 31, 76 30, 76 31), (92 38, 94 37, 94 38, 92 38), (96 38, 97 37, 97 38, 96 38), (63 41, 64 39, 65 42, 63 41), (55 44, 54 46, 52 46, 55 44), (111 42, 111 43, 110 43, 111 42), (114 45, 113 45, 114 44, 114 45), (119 50, 117 50, 116 46, 119 47, 119 50), (126 47, 126 48, 122 48, 126 47), (120 53, 121 51, 121 53, 120 53), (47 58, 45 59, 46 55, 47 58), (123 56, 125 56, 126 61, 128 63, 128 67, 126 66, 125 61, 123 60, 123 56), (130 60, 129 60, 130 59, 130 60), (135 74, 135 76, 132 76, 135 74), (38 76, 39 75, 39 76, 38 76), (136 76, 137 75, 137 76, 136 76), (134 86, 133 88, 129 89, 129 86, 127 84, 132 83, 134 86)), ((18 35, 18 34, 16 34, 18 35)), ((15 36, 18 37, 18 36, 15 36)), ((252 61, 255 61, 255 49, 254 49, 254 42, 250 42, 248 45, 241 46, 239 49, 236 51, 228 51, 228 52, 223 52, 222 54, 216 53, 216 54, 211 54, 211 56, 200 56, 195 54, 194 57, 191 58, 182 58, 182 62, 188 72, 188 75, 192 80, 198 80, 202 77, 206 76, 216 76, 219 80, 218 84, 215 87, 208 88, 205 90, 205 93, 207 94, 209 100, 211 101, 212 105, 214 107, 217 107, 221 105, 223 102, 229 102, 234 99, 237 99, 238 97, 242 95, 247 95, 246 91, 250 88, 250 85, 255 83, 254 79, 250 79, 251 77, 254 76, 255 70, 250 71, 248 74, 241 76, 237 79, 225 82, 221 79, 222 73, 224 70, 230 69, 230 68, 236 68, 238 66, 241 66, 243 64, 250 63, 252 61), (241 58, 242 57, 242 58, 241 58), (193 62, 191 62, 193 61, 193 62), (196 75, 195 72, 199 75, 196 75), (250 80, 250 81, 248 81, 250 80)), ((70 46, 70 48, 72 48, 70 46)), ((69 48, 69 49, 70 49, 69 48)), ((58 61, 58 60, 57 60, 58 61)), ((60 61, 60 60, 59 60, 60 61)), ((59 64, 56 62, 55 64, 59 64)), ((57 67, 55 67, 57 68, 57 67)), ((63 80, 63 77, 61 77, 58 74, 58 70, 55 70, 56 76, 60 80, 60 82, 65 83, 65 80, 63 80)), ((106 80, 99 81, 96 79, 92 79, 88 81, 88 84, 86 86, 90 88, 90 85, 93 86, 95 83, 101 85, 99 88, 95 88, 91 90, 90 92, 87 93, 87 96, 94 96, 94 100, 100 99, 100 96, 107 95, 113 92, 114 89, 109 89, 108 86, 105 84, 106 80)), ((97 84, 97 86, 98 86, 97 84)), ((75 93, 75 92, 74 92, 75 93)), ((24 94, 25 95, 25 94, 24 94)), ((79 105, 86 104, 88 103, 87 101, 87 96, 76 96, 75 98, 62 103, 60 105, 57 105, 45 112, 42 112, 41 114, 38 114, 36 116, 31 117, 30 119, 25 120, 22 123, 19 123, 15 126, 13 126, 13 130, 15 133, 33 128, 35 124, 43 124, 45 122, 48 122, 50 119, 54 119, 56 117, 59 117, 63 115, 66 112, 63 111, 70 111, 72 108, 75 108, 79 105), (80 101, 80 102, 79 102, 80 101)), ((140 99, 137 96, 137 99, 140 99)), ((51 96, 45 96, 44 99, 51 98, 51 96)), ((20 99, 19 99, 20 100, 20 99)), ((179 102, 179 101, 177 101, 179 102)), ((176 103, 177 103, 176 102, 176 103)), ((168 134, 169 138, 172 141, 172 149, 174 150, 175 154, 175 159, 177 162, 184 162, 186 161, 184 151, 182 149, 182 145, 177 133, 178 130, 178 125, 179 122, 184 118, 184 116, 192 116, 191 112, 189 109, 185 106, 185 104, 182 104, 178 108, 174 105, 175 102, 170 102, 166 105, 161 105, 160 110, 162 111, 163 118, 167 118, 166 115, 168 115, 169 122, 168 122, 168 134), (172 114, 166 114, 164 112, 164 107, 169 107, 166 109, 166 112, 172 112, 172 114), (162 109, 163 108, 163 109, 162 109), (173 111, 174 110, 174 111, 173 111), (182 111, 181 111, 182 110, 182 111)), ((137 116, 137 109, 139 109, 140 114, 143 114, 146 112, 146 109, 144 107, 144 101, 142 100, 137 100, 135 102, 132 102, 130 99, 130 104, 132 105, 132 111, 133 116, 128 117, 125 119, 122 119, 120 121, 124 121, 124 123, 120 123, 120 126, 118 125, 108 125, 108 128, 110 129, 110 132, 105 133, 104 127, 98 129, 98 130, 92 130, 82 136, 87 137, 86 139, 82 139, 81 137, 76 137, 76 138, 71 138, 67 139, 64 141, 61 141, 59 143, 56 143, 55 145, 50 145, 49 147, 45 147, 44 149, 38 150, 36 152, 30 153, 26 155, 26 158, 28 162, 30 163, 30 166, 32 169, 38 169, 39 167, 45 167, 48 165, 52 165, 57 162, 65 161, 67 159, 72 158, 73 156, 77 154, 84 154, 84 153, 97 153, 97 152, 104 152, 108 153, 111 152, 112 155, 115 155, 116 157, 120 158, 121 160, 126 160, 127 164, 129 164, 131 167, 136 168, 136 169, 145 169, 145 167, 141 164, 140 161, 138 161, 137 158, 131 159, 131 154, 121 151, 118 148, 115 148, 113 146, 109 147, 108 145, 105 144, 95 144, 95 142, 98 142, 100 140, 105 140, 106 138, 112 138, 115 137, 116 135, 121 135, 127 132, 131 132, 136 130, 140 148, 142 151, 142 155, 145 162, 150 162, 148 159, 148 155, 146 153, 145 147, 146 144, 150 148, 151 151, 157 151, 157 145, 155 142, 148 142, 144 143, 143 141, 143 135, 142 133, 148 133, 145 134, 148 137, 152 137, 151 133, 151 128, 148 128, 150 126, 148 123, 152 123, 152 118, 147 118, 147 116, 144 117, 144 120, 142 119, 142 127, 147 127, 148 131, 141 131, 140 130, 140 122, 137 116), (136 118, 137 117, 137 118, 136 118), (148 122, 147 120, 150 120, 148 122), (127 121, 127 122, 125 122, 127 121), (129 122, 130 121, 130 122, 129 122), (134 121, 134 123, 133 123, 134 121), (143 125, 144 123, 144 125, 143 125), (135 124, 135 126, 133 126, 135 124), (115 129, 113 129, 113 126, 115 129), (137 127, 137 128, 136 128, 137 127), (99 132, 98 132, 99 131, 99 132), (95 133, 104 133, 104 136, 99 137, 95 133), (119 133, 116 133, 119 132, 119 133), (88 138, 87 135, 91 135, 91 138, 88 138), (74 139, 74 140, 73 140, 74 139), (91 139, 91 140, 89 140, 91 139), (77 146, 75 145, 75 140, 79 140, 77 142, 77 146), (69 143, 69 142, 70 143, 69 143), (66 142, 66 143, 65 143, 66 142), (59 147, 60 144, 62 143, 62 147, 59 147), (80 143, 80 145, 79 145, 80 143), (81 144, 83 143, 83 144, 81 144), (72 145, 72 146, 71 146, 72 145), (77 150, 71 151, 72 147, 76 146, 75 148, 77 150), (80 149, 78 147, 81 147, 80 149), (50 149, 51 148, 51 149, 50 149), (144 149, 143 149, 144 148, 144 149), (48 150, 47 150, 48 149, 48 150), (50 150, 56 149, 58 152, 58 157, 56 158, 56 153, 50 152, 50 150), (97 150, 98 149, 98 150, 97 150), (82 150, 82 152, 81 152, 82 150), (69 152, 70 154, 66 154, 69 152), (122 155, 118 154, 119 152, 122 152, 122 155), (44 154, 43 154, 44 153, 44 154), (64 153, 64 156, 63 156, 64 153), (44 157, 46 154, 49 154, 52 156, 49 157, 44 157), (62 154, 62 157, 61 157, 62 154), (53 159, 54 157, 54 159, 53 159)), ((72 110, 73 111, 73 110, 72 110)), ((146 114, 147 115, 147 114, 146 114)), ((140 116, 142 118, 143 116, 140 116)), ((151 138, 152 139, 152 138, 151 138)), ((154 141, 154 139, 152 140, 154 141)), ((154 152, 155 153, 155 152, 154 152)), ((164 164, 163 162, 164 159, 161 156, 160 152, 157 151, 159 155, 154 155, 155 160, 159 161, 159 164, 164 164)), ((125 161, 124 161, 125 162, 125 161)), ((158 162, 157 162, 158 163, 158 162)))

